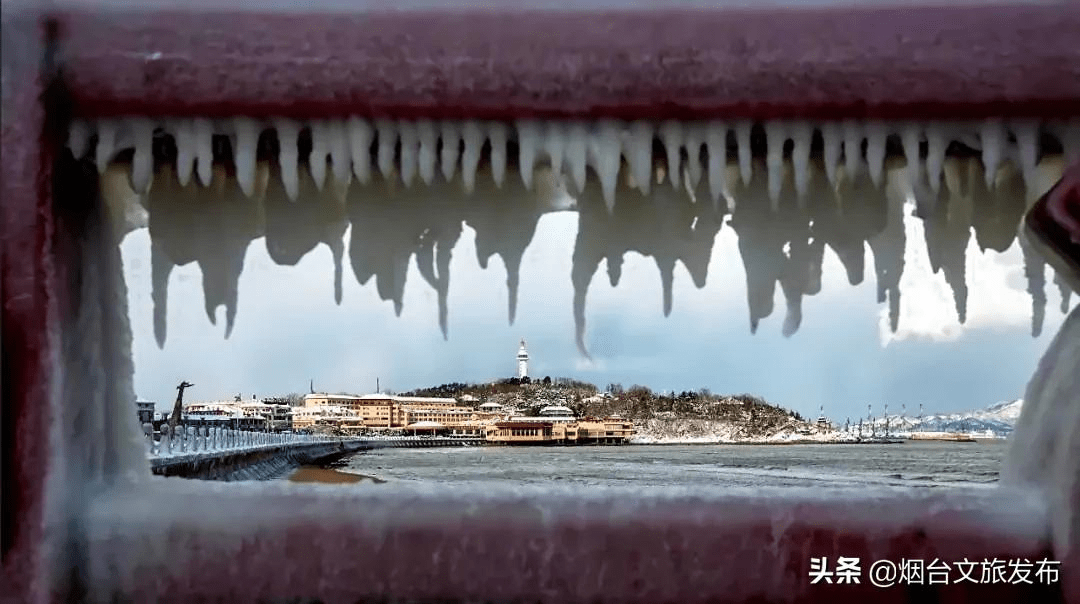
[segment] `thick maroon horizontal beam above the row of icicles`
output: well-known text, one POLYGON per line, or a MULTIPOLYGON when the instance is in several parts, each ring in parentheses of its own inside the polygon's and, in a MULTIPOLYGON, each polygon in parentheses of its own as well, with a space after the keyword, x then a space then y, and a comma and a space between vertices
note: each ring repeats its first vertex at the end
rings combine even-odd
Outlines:
POLYGON ((1080 115, 1080 5, 71 12, 86 116, 1080 115))

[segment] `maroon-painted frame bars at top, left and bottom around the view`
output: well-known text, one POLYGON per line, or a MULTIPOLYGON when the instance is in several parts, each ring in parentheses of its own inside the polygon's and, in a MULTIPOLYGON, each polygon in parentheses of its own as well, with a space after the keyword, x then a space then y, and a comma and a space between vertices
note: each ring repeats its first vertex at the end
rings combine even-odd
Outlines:
MULTIPOLYGON (((13 84, 4 90, 0 163, 5 484, 0 592, 25 602, 70 595, 52 592, 43 549, 45 477, 54 461, 48 403, 60 354, 59 300, 68 293, 58 267, 64 258, 53 242, 50 179, 58 147, 43 134, 49 122, 40 102, 39 58, 45 45, 35 27, 41 16, 24 12, 3 29, 4 77, 13 84), (11 40, 27 55, 9 57, 11 40)), ((59 23, 64 80, 73 110, 84 117, 356 111, 404 118, 926 119, 1080 112, 1076 4, 567 13, 530 15, 527 26, 519 15, 485 13, 435 19, 419 13, 71 11, 59 23)), ((1074 175, 1078 171, 1072 167, 1074 175)), ((529 511, 527 501, 518 507, 489 501, 476 504, 487 512, 483 522, 430 509, 431 522, 413 518, 381 529, 350 514, 306 515, 308 496, 264 495, 259 506, 300 511, 291 520, 279 514, 281 524, 243 537, 222 537, 198 519, 177 522, 165 534, 134 522, 125 534, 102 537, 114 546, 106 549, 131 555, 153 547, 190 554, 175 568, 147 568, 129 595, 178 602, 294 594, 327 601, 734 602, 764 601, 770 593, 829 602, 908 602, 934 594, 981 603, 1061 598, 995 586, 933 593, 866 585, 808 589, 804 565, 810 555, 1050 555, 1049 543, 988 526, 977 510, 936 513, 932 501, 926 513, 906 521, 867 509, 862 521, 846 522, 842 501, 734 498, 719 508, 676 497, 617 514, 616 522, 610 512, 616 501, 567 498, 566 514, 548 523, 538 522, 539 512, 529 511), (789 523, 778 526, 778 512, 789 523), (744 520, 724 520, 732 513, 744 520), (602 583, 607 589, 598 589, 602 583)), ((213 494, 187 496, 201 506, 216 501, 213 494)), ((124 500, 135 506, 140 499, 134 494, 91 501, 87 515, 120 522, 105 509, 124 500)), ((381 500, 383 509, 407 504, 381 500)), ((1066 595, 1078 601, 1075 561, 1065 572, 1066 595)))

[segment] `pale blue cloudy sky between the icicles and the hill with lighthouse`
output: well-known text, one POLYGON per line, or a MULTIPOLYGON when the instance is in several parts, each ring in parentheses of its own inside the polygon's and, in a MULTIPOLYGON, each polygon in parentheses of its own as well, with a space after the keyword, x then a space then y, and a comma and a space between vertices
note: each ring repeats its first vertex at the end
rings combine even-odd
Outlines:
MULTIPOLYGON (((906 267, 901 281, 900 330, 888 328, 886 305, 876 304, 873 259, 866 279, 851 286, 826 249, 822 292, 805 297, 804 319, 791 338, 781 335, 784 300, 757 334, 750 333, 745 272, 734 231, 717 236, 705 286, 697 288, 676 266, 674 308, 664 318, 659 271, 650 258, 627 254, 622 280, 611 287, 606 265, 593 277, 585 307, 585 344, 575 345, 571 254, 577 213, 543 215, 522 261, 517 318, 507 318, 505 270, 498 256, 486 270, 476 261, 468 226, 453 251, 448 338, 438 327, 435 292, 410 261, 404 308, 382 301, 375 280, 361 286, 345 260, 343 299, 334 303, 333 261, 319 245, 295 267, 275 265, 264 239, 252 242, 240 279, 239 310, 226 339, 225 310, 217 325, 203 309, 200 269, 173 270, 168 336, 159 349, 152 333, 150 243, 146 229, 122 242, 134 332, 136 394, 163 408, 180 380, 195 384, 191 401, 316 391, 397 392, 449 381, 487 381, 516 371, 525 338, 534 377, 573 377, 599 386, 644 385, 653 390, 748 392, 816 416, 860 417, 873 404, 914 413, 963 411, 1023 395, 1039 355, 1063 321, 1061 298, 1048 270, 1043 333, 1030 336, 1030 297, 1018 245, 1005 253, 968 251, 968 321, 957 322, 944 276, 932 274, 921 222, 905 219, 906 267), (916 242, 916 243, 912 243, 916 242)), ((346 244, 349 234, 345 237, 346 244)))

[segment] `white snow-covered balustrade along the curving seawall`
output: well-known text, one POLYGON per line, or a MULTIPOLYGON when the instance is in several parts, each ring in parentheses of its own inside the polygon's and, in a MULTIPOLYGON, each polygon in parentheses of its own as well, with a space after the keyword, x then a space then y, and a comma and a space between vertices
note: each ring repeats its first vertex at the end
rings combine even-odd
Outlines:
POLYGON ((147 453, 150 457, 193 455, 216 452, 270 448, 299 444, 340 442, 340 437, 296 434, 292 432, 258 432, 233 430, 216 426, 162 427, 154 433, 150 424, 143 425, 147 453))

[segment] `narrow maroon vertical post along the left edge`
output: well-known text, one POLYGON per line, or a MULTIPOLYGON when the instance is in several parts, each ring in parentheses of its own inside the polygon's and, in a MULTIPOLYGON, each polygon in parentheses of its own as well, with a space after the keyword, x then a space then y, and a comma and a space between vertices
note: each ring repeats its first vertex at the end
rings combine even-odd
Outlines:
MULTIPOLYGON (((5 8, 6 10, 6 8, 5 8)), ((44 485, 49 468, 49 381, 57 351, 51 327, 56 282, 50 207, 51 150, 42 138, 38 70, 42 32, 33 18, 3 23, 3 161, 0 162, 3 501, 0 593, 42 594, 44 485), (13 485, 17 487, 13 488, 13 485)))

